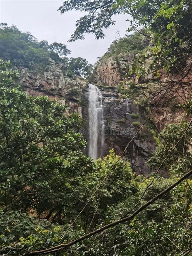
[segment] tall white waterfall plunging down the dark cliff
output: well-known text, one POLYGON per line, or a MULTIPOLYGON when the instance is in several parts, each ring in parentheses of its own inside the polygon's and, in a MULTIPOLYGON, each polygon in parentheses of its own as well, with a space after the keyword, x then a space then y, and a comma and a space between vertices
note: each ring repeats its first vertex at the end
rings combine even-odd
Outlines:
POLYGON ((103 154, 104 146, 104 118, 102 94, 98 87, 89 84, 88 97, 88 115, 89 115, 89 142, 88 155, 94 160, 103 154))

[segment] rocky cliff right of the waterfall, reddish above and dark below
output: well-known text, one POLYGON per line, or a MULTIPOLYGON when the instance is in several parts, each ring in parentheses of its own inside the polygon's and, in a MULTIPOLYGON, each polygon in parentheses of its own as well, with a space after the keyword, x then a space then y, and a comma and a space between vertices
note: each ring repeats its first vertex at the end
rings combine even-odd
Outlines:
MULTIPOLYGON (((187 66, 181 74, 182 76, 177 74, 167 76, 163 70, 160 70, 160 79, 149 74, 138 80, 137 77, 128 77, 127 75, 132 61, 133 55, 131 54, 103 58, 98 63, 92 79, 92 83, 101 86, 100 90, 103 95, 106 129, 105 152, 109 148, 114 148, 116 154, 122 154, 127 143, 147 118, 146 111, 152 113, 151 116, 159 130, 168 124, 186 119, 186 114, 179 108, 179 104, 190 98, 192 91, 190 66, 187 66), (119 93, 119 88, 122 85, 127 94, 126 99, 121 90, 119 93), (170 87, 169 93, 164 94, 164 90, 161 92, 163 86, 164 88, 170 87), (107 87, 109 88, 107 89, 107 87), (146 94, 151 98, 151 92, 157 92, 159 89, 160 93, 152 100, 146 98, 146 94)), ((130 142, 125 157, 130 160, 132 168, 137 174, 149 173, 146 161, 154 152, 157 142, 158 135, 154 126, 150 124, 130 142)), ((166 176, 167 173, 162 173, 162 175, 166 176)))

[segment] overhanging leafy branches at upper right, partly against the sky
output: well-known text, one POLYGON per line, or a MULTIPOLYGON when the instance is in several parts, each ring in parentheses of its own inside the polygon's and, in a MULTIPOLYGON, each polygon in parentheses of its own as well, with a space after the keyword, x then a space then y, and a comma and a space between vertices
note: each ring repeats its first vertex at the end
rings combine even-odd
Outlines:
MULTIPOLYGON (((179 70, 190 57, 192 10, 189 0, 94 0, 91 3, 88 0, 67 0, 59 10, 64 13, 73 9, 85 11, 87 14, 77 21, 71 41, 83 39, 85 33, 95 34, 96 39, 103 38, 102 29, 115 23, 112 16, 125 13, 132 17, 128 31, 138 30, 142 26, 150 33, 147 38, 153 47, 151 52, 143 56, 144 60, 154 60, 149 70, 179 70)), ((145 72, 143 69, 142 73, 145 72)))

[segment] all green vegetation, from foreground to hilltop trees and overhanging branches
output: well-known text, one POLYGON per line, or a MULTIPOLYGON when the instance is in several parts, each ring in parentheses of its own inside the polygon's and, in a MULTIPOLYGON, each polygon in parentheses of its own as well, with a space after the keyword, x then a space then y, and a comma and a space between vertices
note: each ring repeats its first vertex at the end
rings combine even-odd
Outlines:
MULTIPOLYGON (((77 21, 72 41, 85 33, 102 38, 114 14, 129 13, 128 32, 135 33, 114 41, 102 59, 134 54, 125 78, 153 73, 160 82, 162 70, 177 74, 177 81, 155 88, 148 100, 183 85, 191 67, 189 0, 66 0, 59 9, 88 13, 77 21)), ((0 255, 190 255, 191 98, 178 106, 186 118, 158 134, 147 162, 151 174, 132 173, 130 163, 113 149, 93 161, 83 154, 87 142, 78 132, 79 115, 69 115, 68 106, 57 100, 27 96, 17 82, 17 69, 43 70, 50 59, 63 64, 66 77, 92 74, 87 60, 68 54, 64 44, 38 42, 1 24, 0 255), (160 169, 169 177, 161 177, 160 169)), ((152 119, 149 113, 137 134, 152 119)))

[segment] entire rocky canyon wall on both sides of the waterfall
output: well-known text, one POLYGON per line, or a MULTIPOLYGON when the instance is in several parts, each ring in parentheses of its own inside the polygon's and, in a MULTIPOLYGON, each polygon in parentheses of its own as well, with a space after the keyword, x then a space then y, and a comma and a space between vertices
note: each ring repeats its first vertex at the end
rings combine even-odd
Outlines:
MULTIPOLYGON (((150 173, 147 169, 146 161, 150 158, 158 145, 158 134, 154 126, 149 122, 145 128, 137 133, 141 124, 147 119, 149 111, 153 109, 156 113, 154 121, 159 129, 166 124, 179 122, 183 119, 184 113, 178 108, 178 102, 181 102, 185 93, 180 93, 179 101, 170 100, 170 105, 156 105, 156 100, 150 102, 146 99, 143 90, 147 87, 156 86, 155 77, 147 77, 151 79, 151 83, 140 84, 137 78, 126 77, 127 63, 131 65, 132 55, 126 55, 120 60, 117 58, 108 58, 98 63, 97 69, 94 71, 92 83, 97 85, 102 94, 103 116, 104 116, 104 143, 102 156, 109 153, 109 149, 114 149, 115 153, 121 155, 129 143, 124 158, 128 160, 132 169, 137 174, 147 175, 150 173), (121 70, 121 71, 119 71, 121 70), (128 92, 126 95, 121 89, 122 84, 124 90, 128 92), (134 137, 134 139, 132 139, 134 137)), ((56 64, 50 59, 49 65, 45 70, 28 70, 22 68, 19 70, 20 84, 28 95, 48 96, 51 100, 56 98, 62 104, 68 105, 68 113, 76 111, 85 120, 85 127, 81 128, 81 132, 87 141, 89 140, 88 130, 88 81, 81 77, 69 78, 63 72, 63 64, 56 64)), ((165 82, 170 78, 163 77, 165 82)), ((188 84, 188 76, 182 84, 188 84)), ((182 88, 181 88, 182 89, 182 88)), ((176 92, 175 92, 176 94, 176 92)), ((164 99, 164 97, 162 97, 164 99)), ((85 152, 88 154, 88 152, 85 152)), ((166 173, 162 173, 166 176, 166 173)))

